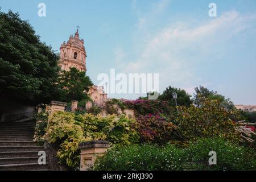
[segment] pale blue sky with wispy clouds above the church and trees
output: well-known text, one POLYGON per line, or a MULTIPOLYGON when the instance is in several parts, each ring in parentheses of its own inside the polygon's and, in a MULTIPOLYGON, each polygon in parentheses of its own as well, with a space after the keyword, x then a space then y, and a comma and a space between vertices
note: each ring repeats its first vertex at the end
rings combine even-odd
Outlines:
MULTIPOLYGON (((88 54, 88 75, 159 73, 159 89, 168 85, 193 93, 195 86, 256 105, 255 0, 73 0, 3 1, 2 11, 19 12, 42 42, 59 51, 80 26, 88 54), (46 17, 38 4, 46 4, 46 17), (208 5, 217 5, 210 18, 208 5)), ((136 98, 136 94, 110 94, 136 98)))

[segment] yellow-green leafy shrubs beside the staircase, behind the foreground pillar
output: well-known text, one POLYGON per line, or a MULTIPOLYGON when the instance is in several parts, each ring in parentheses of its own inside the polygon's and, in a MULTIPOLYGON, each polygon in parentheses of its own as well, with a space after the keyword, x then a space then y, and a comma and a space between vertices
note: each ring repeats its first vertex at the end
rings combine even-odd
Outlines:
POLYGON ((57 158, 72 169, 79 166, 79 143, 87 140, 108 140, 126 145, 138 142, 136 121, 124 115, 100 117, 92 114, 56 112, 49 117, 49 143, 59 146, 57 158))

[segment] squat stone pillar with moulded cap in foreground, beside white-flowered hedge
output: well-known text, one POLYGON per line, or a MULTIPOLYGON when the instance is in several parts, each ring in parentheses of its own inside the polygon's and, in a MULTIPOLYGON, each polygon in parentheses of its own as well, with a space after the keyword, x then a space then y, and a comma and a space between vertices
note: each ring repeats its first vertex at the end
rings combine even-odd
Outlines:
POLYGON ((105 140, 93 140, 79 144, 80 153, 80 171, 87 171, 93 167, 97 157, 104 156, 110 143, 105 140))

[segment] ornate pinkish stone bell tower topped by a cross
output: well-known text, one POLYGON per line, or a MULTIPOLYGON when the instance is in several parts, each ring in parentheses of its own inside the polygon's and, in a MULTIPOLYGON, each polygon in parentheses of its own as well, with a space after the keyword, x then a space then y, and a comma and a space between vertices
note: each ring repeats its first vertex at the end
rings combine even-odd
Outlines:
POLYGON ((67 43, 60 46, 60 63, 62 70, 69 71, 69 68, 75 67, 79 71, 86 71, 86 51, 84 39, 79 38, 77 29, 75 36, 69 36, 67 43))

